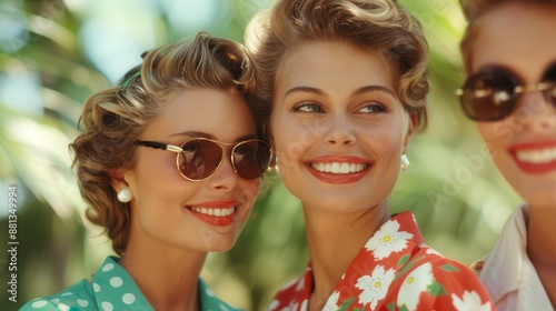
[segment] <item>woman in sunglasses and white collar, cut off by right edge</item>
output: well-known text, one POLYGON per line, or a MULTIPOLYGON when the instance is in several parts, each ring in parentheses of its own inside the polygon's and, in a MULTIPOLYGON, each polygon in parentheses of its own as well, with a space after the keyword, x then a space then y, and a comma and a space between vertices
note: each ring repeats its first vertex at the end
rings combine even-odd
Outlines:
POLYGON ((464 112, 526 203, 474 264, 499 310, 556 307, 556 1, 463 1, 464 112))

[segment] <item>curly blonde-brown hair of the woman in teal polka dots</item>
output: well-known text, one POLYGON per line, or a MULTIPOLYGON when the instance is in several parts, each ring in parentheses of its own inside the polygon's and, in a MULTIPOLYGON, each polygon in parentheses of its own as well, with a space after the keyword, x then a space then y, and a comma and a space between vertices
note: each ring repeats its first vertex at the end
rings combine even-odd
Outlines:
POLYGON ((192 39, 153 49, 119 87, 92 94, 70 144, 87 219, 105 228, 112 249, 122 254, 129 239, 130 210, 118 201, 109 171, 133 168, 133 142, 157 117, 166 100, 188 88, 237 89, 248 103, 255 72, 242 46, 200 32, 192 39))

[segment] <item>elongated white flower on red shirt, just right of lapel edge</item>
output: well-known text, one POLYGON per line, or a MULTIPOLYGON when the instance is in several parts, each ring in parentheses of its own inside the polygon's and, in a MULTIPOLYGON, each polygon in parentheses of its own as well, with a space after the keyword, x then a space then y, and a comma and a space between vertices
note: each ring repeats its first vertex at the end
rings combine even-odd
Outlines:
POLYGON ((398 292, 397 301, 399 309, 409 311, 417 310, 421 292, 425 292, 433 281, 433 265, 430 262, 421 264, 407 274, 398 292))

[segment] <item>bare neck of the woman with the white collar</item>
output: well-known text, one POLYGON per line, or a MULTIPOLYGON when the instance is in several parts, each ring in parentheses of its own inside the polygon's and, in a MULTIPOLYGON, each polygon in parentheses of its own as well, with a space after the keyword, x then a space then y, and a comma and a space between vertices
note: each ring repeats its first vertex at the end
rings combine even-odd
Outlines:
POLYGON ((556 209, 529 207, 527 222, 527 255, 556 308, 556 209))

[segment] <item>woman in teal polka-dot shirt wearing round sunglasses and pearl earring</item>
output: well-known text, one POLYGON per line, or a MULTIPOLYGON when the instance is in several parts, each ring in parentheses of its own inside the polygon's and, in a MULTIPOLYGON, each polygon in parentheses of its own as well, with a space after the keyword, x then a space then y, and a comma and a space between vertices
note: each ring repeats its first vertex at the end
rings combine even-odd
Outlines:
POLYGON ((254 86, 241 46, 199 33, 93 94, 71 150, 87 218, 119 257, 23 310, 236 310, 199 273, 235 244, 268 167, 254 86))

